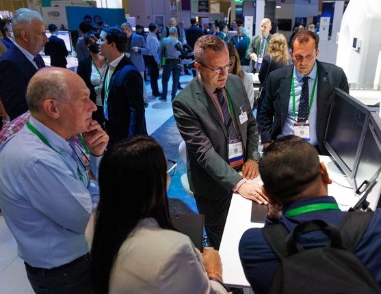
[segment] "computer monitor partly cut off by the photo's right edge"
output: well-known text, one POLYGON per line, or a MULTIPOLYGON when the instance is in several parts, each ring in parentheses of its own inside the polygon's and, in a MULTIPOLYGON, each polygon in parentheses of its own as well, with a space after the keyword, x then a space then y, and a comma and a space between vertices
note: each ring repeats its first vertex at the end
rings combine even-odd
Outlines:
MULTIPOLYGON (((355 190, 366 180, 370 181, 374 174, 381 167, 381 118, 378 113, 372 111, 369 114, 369 120, 365 129, 363 142, 360 146, 360 152, 354 170, 354 188, 355 190)), ((381 181, 367 196, 369 208, 375 210, 381 207, 380 203, 381 181)))

